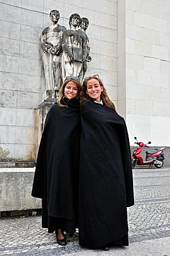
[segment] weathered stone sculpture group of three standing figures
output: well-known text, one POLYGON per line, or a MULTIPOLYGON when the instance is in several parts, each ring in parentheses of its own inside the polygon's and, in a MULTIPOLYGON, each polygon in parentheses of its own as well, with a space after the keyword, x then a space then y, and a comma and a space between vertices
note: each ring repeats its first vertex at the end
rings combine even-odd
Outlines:
POLYGON ((88 18, 74 13, 69 17, 69 27, 58 24, 60 13, 52 10, 49 14, 51 26, 45 28, 40 36, 43 50, 43 63, 47 96, 56 97, 62 82, 67 76, 83 79, 87 70, 90 47, 86 30, 88 18))

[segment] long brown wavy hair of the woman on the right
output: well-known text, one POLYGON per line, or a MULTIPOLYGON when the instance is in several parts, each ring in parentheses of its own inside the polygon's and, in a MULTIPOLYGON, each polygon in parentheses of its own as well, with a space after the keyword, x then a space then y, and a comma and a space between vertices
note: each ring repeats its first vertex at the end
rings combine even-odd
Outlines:
POLYGON ((80 93, 80 102, 92 100, 92 98, 90 98, 89 95, 86 93, 87 82, 92 79, 96 79, 99 82, 99 85, 103 86, 103 91, 101 92, 101 100, 103 104, 117 111, 114 103, 110 100, 109 96, 107 95, 106 88, 104 87, 102 80, 98 76, 89 76, 84 79, 82 83, 82 91, 80 93))

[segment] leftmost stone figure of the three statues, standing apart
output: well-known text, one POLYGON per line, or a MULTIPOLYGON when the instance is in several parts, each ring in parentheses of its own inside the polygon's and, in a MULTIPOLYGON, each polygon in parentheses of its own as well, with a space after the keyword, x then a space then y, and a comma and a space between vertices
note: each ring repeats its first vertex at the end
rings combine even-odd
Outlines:
POLYGON ((61 78, 61 38, 66 27, 58 24, 60 13, 52 10, 49 14, 51 26, 45 28, 40 36, 43 49, 43 63, 45 82, 47 90, 59 90, 62 82, 61 78))

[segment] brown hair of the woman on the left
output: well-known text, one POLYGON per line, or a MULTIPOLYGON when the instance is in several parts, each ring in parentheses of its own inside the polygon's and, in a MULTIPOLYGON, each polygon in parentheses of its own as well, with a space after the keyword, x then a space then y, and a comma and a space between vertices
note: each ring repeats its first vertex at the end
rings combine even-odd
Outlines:
POLYGON ((79 95, 80 95, 80 92, 81 92, 81 89, 82 89, 81 82, 80 82, 79 80, 76 80, 76 79, 74 79, 73 77, 71 77, 71 78, 69 78, 69 79, 66 79, 66 80, 63 82, 63 84, 61 85, 61 88, 60 88, 60 90, 59 90, 59 99, 58 99, 58 101, 57 101, 57 104, 58 104, 59 106, 62 106, 62 107, 65 106, 65 105, 61 104, 61 99, 64 97, 65 86, 68 84, 68 82, 71 82, 71 81, 73 81, 74 84, 77 85, 78 93, 77 93, 76 98, 79 99, 79 95))

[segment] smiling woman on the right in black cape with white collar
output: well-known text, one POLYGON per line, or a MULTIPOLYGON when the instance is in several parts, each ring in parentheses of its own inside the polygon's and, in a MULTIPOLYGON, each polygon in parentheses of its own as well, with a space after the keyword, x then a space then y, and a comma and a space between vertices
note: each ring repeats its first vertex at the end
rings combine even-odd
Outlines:
POLYGON ((134 205, 126 123, 97 75, 82 84, 79 242, 91 249, 128 245, 127 207, 134 205))

